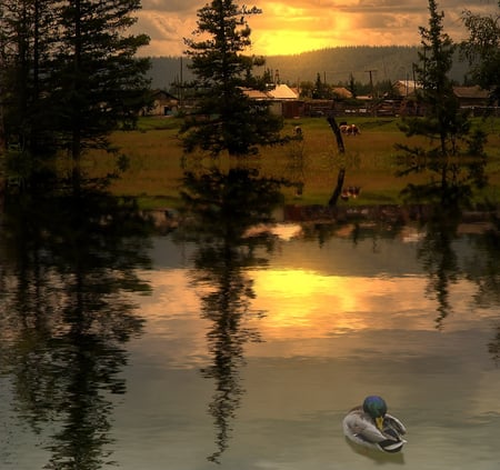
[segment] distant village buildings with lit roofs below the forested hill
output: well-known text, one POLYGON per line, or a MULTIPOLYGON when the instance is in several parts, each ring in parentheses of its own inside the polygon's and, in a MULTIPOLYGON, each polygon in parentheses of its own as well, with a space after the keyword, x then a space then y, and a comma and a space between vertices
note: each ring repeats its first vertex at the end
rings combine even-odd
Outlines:
MULTIPOLYGON (((242 89, 254 101, 267 102, 271 112, 286 119, 327 116, 373 116, 398 117, 421 116, 424 110, 416 99, 419 84, 414 80, 397 80, 391 83, 390 92, 353 96, 346 87, 331 87, 331 98, 309 98, 298 87, 291 87, 277 80, 267 90, 242 89)), ((461 108, 470 109, 473 116, 500 116, 498 106, 489 103, 488 90, 478 86, 453 87, 461 108)), ((174 117, 189 112, 196 104, 182 96, 182 90, 172 93, 164 90, 151 90, 151 106, 143 110, 144 116, 174 117)), ((498 103, 497 103, 498 104, 498 103)))

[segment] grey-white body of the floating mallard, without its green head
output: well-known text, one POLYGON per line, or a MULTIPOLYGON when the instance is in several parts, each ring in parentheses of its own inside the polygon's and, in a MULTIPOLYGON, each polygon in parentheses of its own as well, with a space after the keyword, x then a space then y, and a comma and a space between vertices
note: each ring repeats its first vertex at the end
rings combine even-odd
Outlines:
POLYGON ((382 427, 379 429, 373 418, 363 411, 363 407, 357 407, 346 416, 342 427, 343 433, 351 441, 384 452, 398 452, 406 443, 402 436, 407 429, 389 413, 383 416, 382 427))

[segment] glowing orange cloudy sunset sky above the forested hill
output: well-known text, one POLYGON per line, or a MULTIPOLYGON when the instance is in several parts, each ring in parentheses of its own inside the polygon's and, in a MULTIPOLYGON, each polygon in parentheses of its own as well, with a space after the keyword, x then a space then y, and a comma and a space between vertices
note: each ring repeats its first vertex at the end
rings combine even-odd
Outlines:
MULTIPOLYGON (((146 32, 150 44, 141 56, 181 56, 183 38, 191 38, 197 11, 209 0, 142 0, 133 32, 146 32)), ((414 46, 419 27, 429 22, 426 0, 237 0, 249 14, 253 54, 297 54, 339 46, 414 46)), ((460 21, 464 9, 498 12, 497 0, 441 0, 444 31, 454 40, 466 37, 460 21)))

